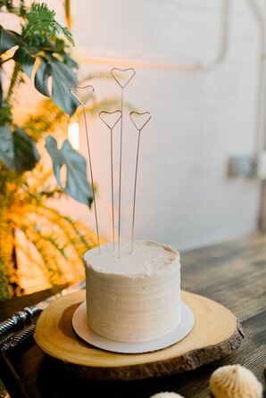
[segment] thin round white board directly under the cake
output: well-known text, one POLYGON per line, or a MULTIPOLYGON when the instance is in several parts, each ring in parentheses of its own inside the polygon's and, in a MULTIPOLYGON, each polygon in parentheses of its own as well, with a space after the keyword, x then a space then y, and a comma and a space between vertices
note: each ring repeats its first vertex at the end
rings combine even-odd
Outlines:
POLYGON ((121 353, 142 353, 162 350, 172 344, 178 343, 193 329, 195 323, 194 313, 187 303, 181 302, 181 321, 177 328, 168 335, 144 343, 121 343, 109 340, 96 333, 87 325, 86 302, 81 303, 73 314, 72 326, 79 337, 87 343, 95 345, 106 351, 121 353))

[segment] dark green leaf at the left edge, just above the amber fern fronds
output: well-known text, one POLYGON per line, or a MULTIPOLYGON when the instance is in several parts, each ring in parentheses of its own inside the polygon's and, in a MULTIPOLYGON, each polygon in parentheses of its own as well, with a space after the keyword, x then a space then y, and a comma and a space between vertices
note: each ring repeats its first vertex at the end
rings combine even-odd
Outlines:
POLYGON ((0 127, 0 162, 8 169, 22 173, 32 170, 39 161, 34 141, 22 129, 13 132, 7 126, 0 127))

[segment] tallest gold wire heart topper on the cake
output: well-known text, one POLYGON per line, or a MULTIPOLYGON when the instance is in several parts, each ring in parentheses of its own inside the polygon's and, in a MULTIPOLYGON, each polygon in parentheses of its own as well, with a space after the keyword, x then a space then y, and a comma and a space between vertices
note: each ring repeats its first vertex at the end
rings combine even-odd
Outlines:
POLYGON ((122 179, 122 145, 123 145, 123 111, 124 111, 124 88, 129 84, 129 81, 133 79, 135 76, 136 72, 133 68, 121 70, 118 68, 112 68, 111 70, 111 75, 113 79, 116 80, 116 82, 120 85, 121 87, 121 139, 120 139, 120 165, 119 165, 119 203, 118 203, 118 257, 121 255, 121 179, 122 179), (116 76, 116 73, 123 73, 123 72, 129 72, 131 71, 131 75, 129 79, 124 82, 124 84, 121 84, 120 79, 116 76))

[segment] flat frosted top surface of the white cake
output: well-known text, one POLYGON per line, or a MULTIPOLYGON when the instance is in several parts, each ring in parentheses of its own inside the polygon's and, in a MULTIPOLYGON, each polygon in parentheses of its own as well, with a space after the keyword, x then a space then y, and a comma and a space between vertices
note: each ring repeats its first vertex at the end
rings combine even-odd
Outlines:
POLYGON ((130 252, 130 242, 121 242, 121 256, 117 257, 112 250, 112 244, 101 245, 87 251, 84 261, 88 267, 114 275, 155 275, 170 266, 173 261, 179 261, 179 252, 168 245, 162 245, 150 240, 134 242, 134 251, 130 252))

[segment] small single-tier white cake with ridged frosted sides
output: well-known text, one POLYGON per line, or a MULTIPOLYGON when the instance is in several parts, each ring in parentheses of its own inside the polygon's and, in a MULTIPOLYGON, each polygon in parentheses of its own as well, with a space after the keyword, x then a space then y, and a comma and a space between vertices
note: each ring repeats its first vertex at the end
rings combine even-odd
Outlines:
POLYGON ((112 244, 84 255, 87 322, 96 334, 119 342, 162 337, 180 321, 179 253, 168 245, 121 242, 121 257, 112 244))

